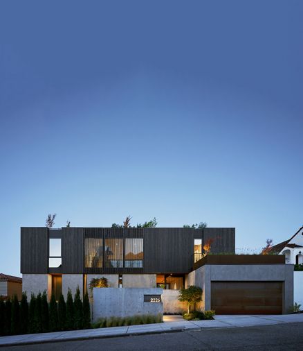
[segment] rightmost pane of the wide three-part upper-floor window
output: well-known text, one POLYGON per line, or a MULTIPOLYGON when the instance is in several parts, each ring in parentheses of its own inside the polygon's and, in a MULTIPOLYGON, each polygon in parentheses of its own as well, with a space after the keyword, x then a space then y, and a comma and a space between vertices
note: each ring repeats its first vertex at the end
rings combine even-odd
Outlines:
POLYGON ((143 267, 143 239, 125 239, 125 268, 143 267))

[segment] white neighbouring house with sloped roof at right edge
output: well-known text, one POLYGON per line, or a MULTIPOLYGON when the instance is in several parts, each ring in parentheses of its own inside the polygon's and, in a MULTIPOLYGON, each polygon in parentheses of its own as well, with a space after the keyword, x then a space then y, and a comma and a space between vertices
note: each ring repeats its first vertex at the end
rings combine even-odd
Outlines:
POLYGON ((286 264, 303 264, 303 226, 291 239, 273 246, 270 252, 285 255, 286 264))

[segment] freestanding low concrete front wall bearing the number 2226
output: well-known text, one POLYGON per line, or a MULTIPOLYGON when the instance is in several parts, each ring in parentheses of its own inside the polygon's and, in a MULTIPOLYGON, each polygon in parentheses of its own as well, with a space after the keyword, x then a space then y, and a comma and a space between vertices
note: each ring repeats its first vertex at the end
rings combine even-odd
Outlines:
POLYGON ((161 295, 154 288, 93 288, 93 320, 100 317, 125 317, 135 314, 163 314, 163 302, 144 302, 144 295, 161 295))

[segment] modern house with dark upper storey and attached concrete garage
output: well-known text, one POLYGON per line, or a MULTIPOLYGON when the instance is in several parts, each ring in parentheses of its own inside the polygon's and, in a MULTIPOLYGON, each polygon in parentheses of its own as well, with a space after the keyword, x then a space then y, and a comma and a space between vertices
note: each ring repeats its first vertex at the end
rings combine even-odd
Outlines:
POLYGON ((178 290, 190 284, 203 289, 201 308, 217 313, 285 313, 293 305, 284 256, 232 257, 238 257, 235 228, 21 228, 28 294, 53 291, 58 299, 106 277, 111 288, 163 288, 170 313, 178 311, 178 290))

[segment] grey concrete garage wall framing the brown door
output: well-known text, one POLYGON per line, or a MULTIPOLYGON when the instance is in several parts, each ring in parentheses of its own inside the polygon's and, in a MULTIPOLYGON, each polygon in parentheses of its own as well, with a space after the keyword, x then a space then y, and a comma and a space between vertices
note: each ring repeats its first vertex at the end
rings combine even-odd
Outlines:
POLYGON ((211 282, 284 282, 283 313, 293 306, 293 265, 291 264, 205 264, 187 275, 185 285, 196 285, 203 289, 201 308, 211 308, 211 282))

